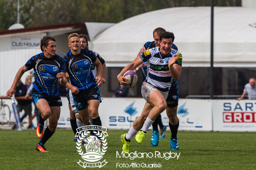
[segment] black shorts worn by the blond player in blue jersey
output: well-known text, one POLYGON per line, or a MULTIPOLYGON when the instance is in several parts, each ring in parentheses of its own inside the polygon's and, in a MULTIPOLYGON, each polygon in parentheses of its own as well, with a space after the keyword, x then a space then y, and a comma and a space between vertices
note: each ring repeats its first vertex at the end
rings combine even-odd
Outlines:
POLYGON ((101 103, 100 90, 95 84, 86 90, 79 91, 78 94, 73 94, 73 99, 76 110, 83 110, 87 107, 89 100, 100 100, 101 103))

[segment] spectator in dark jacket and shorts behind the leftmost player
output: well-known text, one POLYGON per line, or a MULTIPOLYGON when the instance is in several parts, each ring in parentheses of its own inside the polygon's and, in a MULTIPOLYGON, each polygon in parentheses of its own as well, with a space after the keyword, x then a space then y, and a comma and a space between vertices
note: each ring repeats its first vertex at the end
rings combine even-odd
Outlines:
MULTIPOLYGON (((27 86, 24 85, 20 80, 17 83, 17 86, 15 88, 15 92, 14 95, 16 97, 18 96, 25 96, 27 92, 27 86)), ((23 115, 20 118, 20 122, 22 122, 22 120, 28 115, 28 129, 32 128, 32 105, 31 105, 31 100, 17 100, 18 104, 17 104, 17 109, 18 109, 18 113, 20 113, 22 110, 24 110, 25 112, 25 116, 23 115)), ((17 125, 13 125, 12 129, 16 129, 17 125)))

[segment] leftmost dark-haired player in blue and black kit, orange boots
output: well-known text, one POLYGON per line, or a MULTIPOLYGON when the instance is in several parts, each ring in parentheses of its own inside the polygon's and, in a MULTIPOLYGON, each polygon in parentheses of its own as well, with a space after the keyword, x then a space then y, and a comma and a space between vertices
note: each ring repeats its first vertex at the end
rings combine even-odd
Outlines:
POLYGON ((44 144, 53 135, 58 125, 60 117, 60 106, 62 102, 57 89, 57 80, 61 85, 66 85, 66 67, 59 55, 55 54, 56 42, 52 37, 44 36, 41 40, 40 54, 31 57, 28 62, 17 72, 12 87, 7 91, 8 96, 12 96, 15 86, 21 76, 28 70, 34 69, 35 83, 32 91, 32 99, 41 112, 37 122, 36 136, 40 142, 36 145, 36 150, 46 151, 44 144), (49 119, 49 125, 44 130, 44 121, 49 119))

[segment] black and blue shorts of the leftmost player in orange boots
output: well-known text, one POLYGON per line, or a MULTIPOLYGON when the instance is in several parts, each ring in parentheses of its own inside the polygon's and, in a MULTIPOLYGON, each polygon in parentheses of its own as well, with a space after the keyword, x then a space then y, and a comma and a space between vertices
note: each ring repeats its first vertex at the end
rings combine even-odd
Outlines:
POLYGON ((43 94, 36 93, 32 94, 32 99, 35 105, 39 99, 45 99, 46 101, 48 101, 49 106, 62 106, 60 96, 44 96, 43 94))

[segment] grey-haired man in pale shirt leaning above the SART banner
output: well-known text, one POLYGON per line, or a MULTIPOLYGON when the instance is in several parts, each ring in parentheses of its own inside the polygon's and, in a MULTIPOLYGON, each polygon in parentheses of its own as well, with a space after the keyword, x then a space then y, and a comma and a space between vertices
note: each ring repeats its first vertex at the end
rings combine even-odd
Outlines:
POLYGON ((248 99, 255 100, 256 99, 256 87, 255 87, 255 78, 250 78, 249 83, 244 86, 244 92, 241 97, 237 98, 237 100, 244 99, 245 95, 248 94, 248 99))

